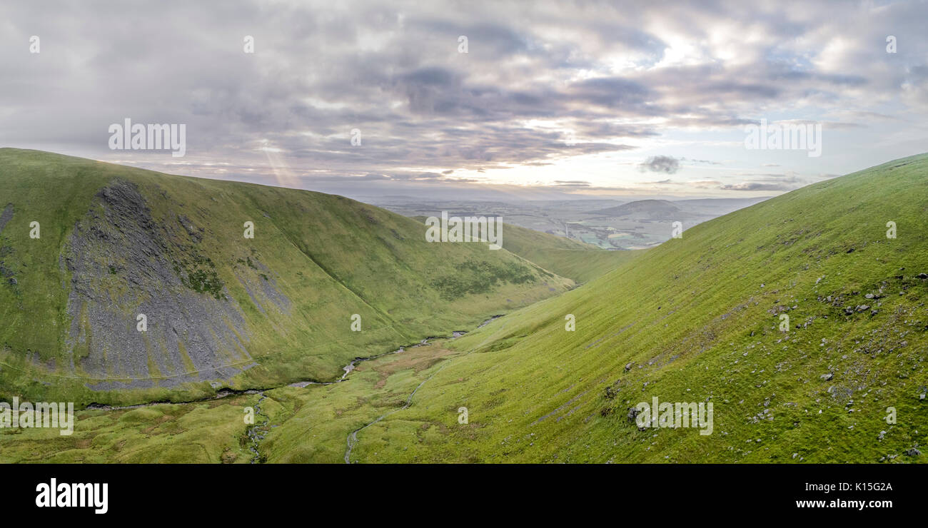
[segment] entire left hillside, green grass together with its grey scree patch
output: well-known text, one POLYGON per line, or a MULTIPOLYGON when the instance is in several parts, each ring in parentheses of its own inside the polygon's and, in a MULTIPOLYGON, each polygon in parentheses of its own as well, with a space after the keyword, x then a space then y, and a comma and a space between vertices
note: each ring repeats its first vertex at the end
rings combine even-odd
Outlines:
POLYGON ((482 243, 430 244, 416 221, 339 196, 39 151, 0 149, 0 202, 4 399, 330 380, 356 356, 574 286, 482 243))

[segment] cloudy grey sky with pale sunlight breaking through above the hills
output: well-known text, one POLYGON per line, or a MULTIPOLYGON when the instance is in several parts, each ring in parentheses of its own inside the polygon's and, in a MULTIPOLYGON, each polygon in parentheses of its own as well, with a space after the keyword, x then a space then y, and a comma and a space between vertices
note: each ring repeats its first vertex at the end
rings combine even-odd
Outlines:
POLYGON ((4 1, 0 147, 359 198, 774 196, 928 151, 926 20, 925 2, 4 1), (185 155, 111 149, 125 119, 184 124, 185 155), (807 126, 820 155, 748 148, 762 121, 807 126))

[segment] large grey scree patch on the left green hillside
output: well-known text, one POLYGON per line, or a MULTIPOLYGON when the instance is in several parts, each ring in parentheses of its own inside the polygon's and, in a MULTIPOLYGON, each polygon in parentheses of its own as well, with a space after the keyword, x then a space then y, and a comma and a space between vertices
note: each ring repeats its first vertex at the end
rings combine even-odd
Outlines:
MULTIPOLYGON (((180 222, 199 238, 186 218, 180 222)), ((92 379, 88 387, 174 387, 254 366, 238 303, 210 273, 209 259, 194 254, 199 267, 191 271, 190 258, 135 184, 114 180, 97 193, 61 259, 71 280, 71 369, 92 379)))

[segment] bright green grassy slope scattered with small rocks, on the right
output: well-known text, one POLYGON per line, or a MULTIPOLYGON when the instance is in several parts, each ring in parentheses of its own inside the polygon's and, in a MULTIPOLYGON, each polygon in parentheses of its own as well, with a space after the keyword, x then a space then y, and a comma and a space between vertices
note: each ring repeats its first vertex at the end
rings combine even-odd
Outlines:
POLYGON ((696 225, 451 343, 461 355, 362 431, 352 459, 923 461, 905 453, 928 444, 926 186, 922 155, 696 225), (627 409, 652 396, 713 402, 714 433, 638 431, 627 409))

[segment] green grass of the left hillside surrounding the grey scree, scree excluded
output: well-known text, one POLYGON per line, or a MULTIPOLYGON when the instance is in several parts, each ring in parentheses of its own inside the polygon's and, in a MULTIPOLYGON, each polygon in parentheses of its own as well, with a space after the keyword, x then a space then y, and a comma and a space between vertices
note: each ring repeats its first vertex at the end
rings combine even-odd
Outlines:
MULTIPOLYGON (((200 242, 186 236, 174 242, 212 259, 228 296, 242 307, 247 328, 235 329, 247 331, 249 352, 260 367, 227 382, 235 388, 329 379, 355 356, 472 328, 486 316, 573 286, 508 251, 489 251, 479 243, 429 244, 416 221, 338 196, 4 148, 0 208, 12 202, 14 215, 0 233, 0 247, 6 248, 2 260, 18 284, 6 278, 0 284, 0 395, 67 398, 81 406, 192 399, 213 392, 205 381, 175 389, 92 392, 80 368, 72 372, 67 367, 70 277, 59 257, 99 189, 117 178, 139 187, 157 223, 177 224, 178 215, 184 215, 203 229, 200 242), (33 220, 42 225, 39 239, 29 238, 33 220), (256 225, 253 239, 242 237, 246 220, 256 225), (249 258, 269 271, 241 264, 249 258), (469 263, 483 268, 462 267, 469 263), (509 280, 513 270, 528 274, 528 281, 509 280), (240 277, 260 283, 262 273, 290 299, 289 311, 265 302, 263 312, 251 302, 240 277), (493 279, 495 286, 472 288, 493 279), (362 316, 363 331, 350 331, 352 314, 362 316), (55 367, 45 367, 53 359, 55 367)), ((175 225, 174 231, 181 230, 175 225)), ((119 255, 101 258, 118 261, 119 255)), ((131 292, 118 273, 112 280, 108 288, 131 292)), ((135 325, 134 313, 127 312, 125 319, 135 325)), ((112 373, 113 379, 120 376, 112 373)))

